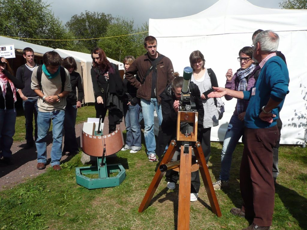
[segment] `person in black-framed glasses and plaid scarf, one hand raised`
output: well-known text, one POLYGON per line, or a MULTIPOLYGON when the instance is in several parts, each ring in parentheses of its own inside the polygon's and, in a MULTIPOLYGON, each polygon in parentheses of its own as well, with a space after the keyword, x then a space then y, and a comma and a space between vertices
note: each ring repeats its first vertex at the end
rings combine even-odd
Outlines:
MULTIPOLYGON (((243 47, 239 51, 238 61, 240 62, 241 67, 234 75, 232 75, 232 69, 228 69, 226 73, 225 88, 246 91, 254 87, 257 76, 259 75, 260 67, 255 65, 252 57, 253 49, 250 46, 243 47)), ((225 99, 229 101, 232 97, 226 95, 225 99)), ((229 185, 232 153, 235 150, 239 139, 244 134, 244 116, 248 102, 249 101, 237 99, 235 111, 229 121, 223 142, 220 176, 219 179, 213 183, 215 190, 219 190, 221 187, 229 185)))

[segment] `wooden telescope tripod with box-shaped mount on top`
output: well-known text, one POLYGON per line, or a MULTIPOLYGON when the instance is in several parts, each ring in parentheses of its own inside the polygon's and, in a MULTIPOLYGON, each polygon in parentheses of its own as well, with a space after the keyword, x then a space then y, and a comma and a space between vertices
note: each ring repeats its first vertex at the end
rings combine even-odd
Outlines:
MULTIPOLYGON (((185 74, 184 74, 185 75, 185 74)), ((185 76, 184 76, 185 78, 185 76)), ((182 92, 181 98, 185 98, 187 103, 190 98, 189 94, 182 92)), ((181 99, 182 102, 184 100, 181 99)), ((188 103, 187 103, 188 104, 188 103)), ((187 106, 182 107, 181 110, 187 110, 187 106)), ((189 108, 189 107, 188 107, 189 108)), ((160 163, 160 170, 156 171, 150 186, 139 206, 138 212, 143 212, 150 204, 150 201, 159 186, 161 179, 166 170, 176 170, 180 172, 179 177, 179 198, 178 198, 178 230, 189 229, 190 223, 190 190, 191 190, 191 172, 197 171, 198 166, 204 186, 208 195, 208 199, 211 205, 212 212, 217 217, 221 217, 222 213, 220 210, 219 203, 216 198, 216 194, 212 185, 212 180, 208 171, 208 166, 204 153, 202 151, 200 142, 197 141, 197 119, 198 112, 193 111, 178 111, 177 116, 177 140, 173 139, 169 148, 165 152, 165 155, 160 163), (181 130, 180 124, 182 122, 189 123, 192 126, 190 132, 181 130), (180 146, 180 161, 170 162, 173 158, 175 151, 179 151, 180 146), (196 164, 192 164, 192 149, 196 157, 196 164)))

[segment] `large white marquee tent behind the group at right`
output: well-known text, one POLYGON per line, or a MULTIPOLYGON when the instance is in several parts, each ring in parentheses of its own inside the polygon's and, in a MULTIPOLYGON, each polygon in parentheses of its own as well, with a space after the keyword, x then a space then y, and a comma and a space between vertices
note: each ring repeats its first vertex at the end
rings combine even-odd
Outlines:
MULTIPOLYGON (((257 29, 271 29, 280 37, 278 50, 286 56, 290 73, 290 93, 280 117, 282 144, 306 142, 307 90, 307 10, 267 9, 254 6, 246 0, 220 0, 208 9, 181 18, 150 19, 149 35, 158 41, 158 51, 169 57, 174 70, 180 74, 189 66, 189 56, 200 50, 205 67, 212 68, 219 86, 225 85, 228 68, 239 67, 238 53, 252 44, 257 29)), ((236 100, 225 102, 225 113, 220 125, 212 128, 211 140, 223 141, 228 121, 236 100)))

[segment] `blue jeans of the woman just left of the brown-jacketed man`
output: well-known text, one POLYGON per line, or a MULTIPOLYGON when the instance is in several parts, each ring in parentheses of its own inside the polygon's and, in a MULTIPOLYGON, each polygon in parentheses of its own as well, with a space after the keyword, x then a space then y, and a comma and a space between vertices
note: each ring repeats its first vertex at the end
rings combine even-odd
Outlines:
POLYGON ((125 125, 126 125, 126 145, 125 148, 140 150, 141 144, 141 127, 138 122, 140 106, 128 105, 128 110, 124 111, 125 125))

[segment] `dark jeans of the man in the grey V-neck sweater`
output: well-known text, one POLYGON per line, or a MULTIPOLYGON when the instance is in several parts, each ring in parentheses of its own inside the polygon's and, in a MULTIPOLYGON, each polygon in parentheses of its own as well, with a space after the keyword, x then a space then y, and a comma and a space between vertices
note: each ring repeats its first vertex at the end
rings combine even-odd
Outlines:
POLYGON ((37 140, 37 99, 28 99, 22 101, 23 110, 25 113, 25 140, 27 143, 33 143, 37 140), (34 140, 33 140, 33 113, 34 113, 34 140))

